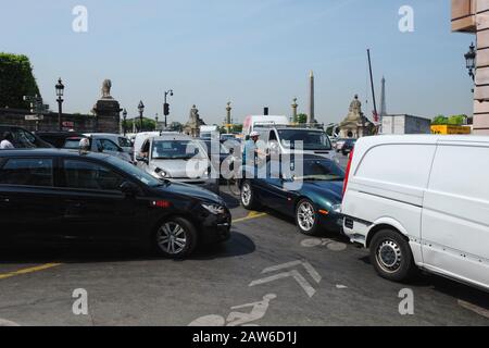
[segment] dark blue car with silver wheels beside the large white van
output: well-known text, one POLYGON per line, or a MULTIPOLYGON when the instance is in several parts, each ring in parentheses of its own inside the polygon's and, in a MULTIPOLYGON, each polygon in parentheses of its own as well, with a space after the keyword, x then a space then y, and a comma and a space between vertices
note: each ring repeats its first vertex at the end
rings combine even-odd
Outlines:
MULTIPOLYGON (((299 231, 316 235, 322 229, 339 233, 344 172, 329 159, 304 157, 289 162, 268 161, 262 178, 244 178, 241 204, 248 210, 267 207, 296 217, 299 231)), ((255 176, 259 174, 255 169, 255 176)))

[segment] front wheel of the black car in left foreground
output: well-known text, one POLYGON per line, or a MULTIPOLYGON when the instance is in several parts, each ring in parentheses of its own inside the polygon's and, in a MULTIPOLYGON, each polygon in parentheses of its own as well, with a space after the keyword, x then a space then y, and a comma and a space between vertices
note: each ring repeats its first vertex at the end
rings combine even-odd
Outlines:
POLYGON ((196 249, 197 232, 187 219, 172 217, 160 225, 153 243, 156 252, 161 256, 185 258, 196 249))

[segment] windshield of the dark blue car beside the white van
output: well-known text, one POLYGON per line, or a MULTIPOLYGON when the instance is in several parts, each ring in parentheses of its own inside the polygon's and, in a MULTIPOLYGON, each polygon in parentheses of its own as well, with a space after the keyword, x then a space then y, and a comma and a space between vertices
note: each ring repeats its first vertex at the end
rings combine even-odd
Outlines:
MULTIPOLYGON (((300 172, 299 165, 302 165, 301 175, 296 176, 296 181, 343 181, 344 172, 335 162, 327 159, 304 160, 297 162, 294 172, 300 172)), ((299 174, 299 173, 298 173, 299 174)))

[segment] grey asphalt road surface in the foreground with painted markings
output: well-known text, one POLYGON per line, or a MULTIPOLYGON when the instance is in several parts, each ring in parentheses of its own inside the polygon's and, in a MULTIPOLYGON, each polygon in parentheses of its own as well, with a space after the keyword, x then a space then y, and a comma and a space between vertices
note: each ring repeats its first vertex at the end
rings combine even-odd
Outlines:
POLYGON ((309 238, 287 217, 227 200, 233 238, 185 261, 130 249, 1 250, 0 325, 489 324, 486 293, 432 275, 387 282, 344 238, 309 238), (76 289, 87 315, 73 313, 76 289), (413 315, 399 311, 403 289, 413 315))

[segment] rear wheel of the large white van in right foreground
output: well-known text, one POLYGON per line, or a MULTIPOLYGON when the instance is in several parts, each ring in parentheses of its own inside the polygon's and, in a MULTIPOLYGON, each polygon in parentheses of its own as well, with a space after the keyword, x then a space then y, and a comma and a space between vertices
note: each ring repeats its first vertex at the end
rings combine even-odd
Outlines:
POLYGON ((372 239, 371 262, 381 277, 392 282, 406 281, 416 271, 409 243, 391 229, 379 231, 372 239))

